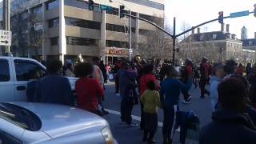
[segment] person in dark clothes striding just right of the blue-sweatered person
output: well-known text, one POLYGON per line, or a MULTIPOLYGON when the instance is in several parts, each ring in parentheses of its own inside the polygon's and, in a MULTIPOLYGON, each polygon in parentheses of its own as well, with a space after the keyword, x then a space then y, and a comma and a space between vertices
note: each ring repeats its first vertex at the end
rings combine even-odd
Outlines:
MULTIPOLYGON (((181 81, 188 87, 190 90, 192 86, 192 76, 193 76, 193 71, 192 71, 192 60, 190 58, 186 59, 185 65, 182 70, 182 79, 181 81)), ((182 94, 184 96, 184 101, 183 103, 189 104, 191 101, 191 96, 188 93, 188 90, 182 90, 182 94)))

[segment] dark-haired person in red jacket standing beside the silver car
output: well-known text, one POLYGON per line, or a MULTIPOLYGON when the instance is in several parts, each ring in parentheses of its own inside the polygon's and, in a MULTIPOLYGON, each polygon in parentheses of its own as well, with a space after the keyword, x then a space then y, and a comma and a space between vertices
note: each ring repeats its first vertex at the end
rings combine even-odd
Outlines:
POLYGON ((104 100, 103 89, 95 78, 89 78, 94 71, 94 66, 90 63, 78 63, 75 67, 76 77, 79 79, 75 82, 77 92, 77 106, 82 110, 88 110, 94 114, 102 116, 99 109, 99 100, 104 100))

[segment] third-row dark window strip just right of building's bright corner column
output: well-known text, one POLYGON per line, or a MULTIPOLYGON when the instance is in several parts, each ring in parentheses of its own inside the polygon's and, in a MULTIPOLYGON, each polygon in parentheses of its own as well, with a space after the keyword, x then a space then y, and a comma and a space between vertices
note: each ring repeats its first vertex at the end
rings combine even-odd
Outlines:
POLYGON ((98 40, 91 38, 66 37, 66 44, 77 46, 98 46, 98 40))

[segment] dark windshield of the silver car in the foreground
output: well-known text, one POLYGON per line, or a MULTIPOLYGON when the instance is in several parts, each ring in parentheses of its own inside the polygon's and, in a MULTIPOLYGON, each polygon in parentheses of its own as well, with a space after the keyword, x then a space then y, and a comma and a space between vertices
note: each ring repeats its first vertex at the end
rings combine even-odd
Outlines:
POLYGON ((42 126, 40 118, 30 110, 5 102, 0 103, 0 118, 31 131, 40 130, 42 126))

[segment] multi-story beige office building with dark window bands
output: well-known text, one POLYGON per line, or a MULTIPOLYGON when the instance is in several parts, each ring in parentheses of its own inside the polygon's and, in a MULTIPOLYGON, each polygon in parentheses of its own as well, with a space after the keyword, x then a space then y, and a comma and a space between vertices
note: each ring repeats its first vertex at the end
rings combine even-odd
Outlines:
MULTIPOLYGON (((117 1, 134 16, 164 21, 165 0, 117 1)), ((88 0, 14 0, 11 50, 16 56, 43 60, 74 59, 79 54, 84 59, 101 56, 106 62, 128 57, 129 21, 118 17, 118 2, 94 0, 94 10, 89 10, 88 0), (100 10, 99 5, 113 11, 100 10)), ((155 28, 134 18, 131 26, 133 54, 138 54, 147 43, 144 33, 155 28)))

